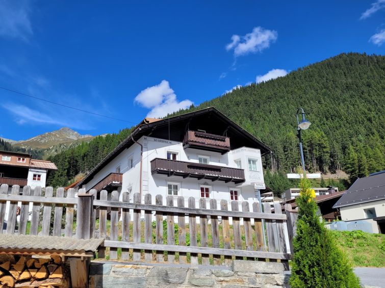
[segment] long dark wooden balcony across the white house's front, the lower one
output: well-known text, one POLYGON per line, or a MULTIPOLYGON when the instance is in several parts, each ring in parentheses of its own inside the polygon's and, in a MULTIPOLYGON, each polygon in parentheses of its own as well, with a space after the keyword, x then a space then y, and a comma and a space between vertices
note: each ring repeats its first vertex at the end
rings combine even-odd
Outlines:
POLYGON ((225 183, 245 182, 243 169, 155 158, 151 161, 151 174, 182 176, 183 178, 210 179, 225 183))

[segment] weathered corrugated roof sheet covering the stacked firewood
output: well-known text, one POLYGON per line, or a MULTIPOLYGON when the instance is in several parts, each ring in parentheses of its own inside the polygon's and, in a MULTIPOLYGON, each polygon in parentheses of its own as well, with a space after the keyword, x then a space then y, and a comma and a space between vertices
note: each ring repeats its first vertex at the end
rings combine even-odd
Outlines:
POLYGON ((0 234, 0 249, 42 249, 93 252, 104 241, 72 237, 0 234))

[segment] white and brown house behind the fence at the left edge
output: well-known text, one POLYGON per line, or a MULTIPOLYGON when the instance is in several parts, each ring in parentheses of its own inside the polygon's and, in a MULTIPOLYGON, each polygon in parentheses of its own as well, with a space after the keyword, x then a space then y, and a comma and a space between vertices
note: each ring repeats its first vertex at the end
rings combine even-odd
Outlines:
POLYGON ((32 159, 31 154, 0 151, 0 184, 45 187, 49 171, 57 170, 50 161, 32 159))

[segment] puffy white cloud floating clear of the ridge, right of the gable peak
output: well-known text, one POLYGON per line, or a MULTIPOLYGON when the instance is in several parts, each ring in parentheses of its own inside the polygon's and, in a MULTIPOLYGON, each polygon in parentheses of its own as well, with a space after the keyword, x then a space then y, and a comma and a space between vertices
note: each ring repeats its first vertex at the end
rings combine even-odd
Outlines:
POLYGON ((245 36, 233 35, 232 42, 226 45, 226 50, 234 49, 234 55, 240 56, 248 53, 261 52, 277 40, 277 32, 264 29, 260 26, 254 27, 251 33, 245 36))

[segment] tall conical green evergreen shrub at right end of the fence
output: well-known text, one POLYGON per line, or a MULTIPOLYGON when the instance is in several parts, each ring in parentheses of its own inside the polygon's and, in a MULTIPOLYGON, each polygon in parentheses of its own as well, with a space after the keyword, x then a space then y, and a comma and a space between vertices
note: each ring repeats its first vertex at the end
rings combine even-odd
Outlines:
MULTIPOLYGON (((311 196, 310 182, 302 179, 297 235, 290 284, 293 288, 360 287, 344 253, 338 249, 330 231, 317 215, 317 204, 311 196)), ((365 236, 365 235, 364 235, 365 236)), ((354 233, 351 237, 364 237, 354 233)))

